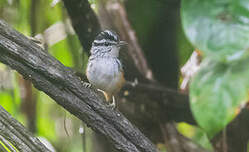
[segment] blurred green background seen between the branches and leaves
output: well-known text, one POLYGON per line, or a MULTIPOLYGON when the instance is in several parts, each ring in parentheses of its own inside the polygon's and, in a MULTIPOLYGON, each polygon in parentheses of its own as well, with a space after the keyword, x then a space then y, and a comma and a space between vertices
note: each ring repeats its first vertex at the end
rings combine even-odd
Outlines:
MULTIPOLYGON (((89 0, 89 2, 98 15, 99 1, 89 0)), ((148 60, 153 61, 150 66, 154 70, 156 78, 163 84, 169 84, 168 82, 172 82, 172 78, 168 78, 167 75, 175 73, 176 76, 173 76, 176 81, 169 86, 177 88, 182 81, 179 67, 186 63, 194 50, 184 35, 180 14, 177 13, 175 24, 171 25, 175 28, 175 33, 173 33, 175 36, 173 39, 176 40, 174 52, 165 51, 166 54, 162 54, 162 52, 156 51, 155 46, 153 46, 155 49, 150 46, 148 41, 153 42, 158 39, 171 41, 163 36, 156 38, 153 36, 155 36, 154 33, 164 32, 157 29, 166 26, 166 23, 168 24, 168 18, 165 22, 160 22, 163 15, 158 14, 164 14, 167 13, 167 10, 175 9, 171 8, 173 4, 166 4, 162 0, 144 0, 143 5, 141 5, 141 1, 134 0, 127 1, 125 4, 129 8, 127 14, 137 33, 139 43, 148 60), (159 8, 166 8, 166 11, 163 12, 159 8), (138 13, 139 11, 142 11, 143 17, 138 13), (148 35, 151 35, 151 37, 148 35), (173 64, 167 61, 173 60, 171 55, 174 53, 176 53, 177 58, 172 62, 177 63, 178 68, 175 68, 175 71, 172 71, 174 67, 172 69, 168 68, 168 71, 162 70, 173 64)), ((61 1, 0 0, 0 19, 7 21, 17 31, 26 36, 40 39, 41 34, 45 35, 45 39, 42 37, 42 41, 46 42, 43 47, 48 53, 65 66, 84 73, 88 57, 70 26, 69 17, 61 1)), ((169 20, 171 21, 171 19, 169 20)), ((164 33, 168 34, 167 32, 164 33)), ((169 43, 171 44, 171 42, 169 43)), ((157 44, 157 42, 153 42, 153 44, 157 44)), ((159 43, 159 45, 161 44, 159 43)), ((51 100, 46 94, 33 88, 30 82, 23 80, 17 72, 0 63, 1 106, 36 136, 48 140, 56 151, 92 152, 95 145, 92 130, 51 100), (79 133, 82 128, 86 134, 85 139, 79 133)), ((196 143, 209 150, 212 149, 203 130, 187 123, 178 123, 177 128, 183 135, 193 139, 196 143)), ((156 144, 162 151, 166 151, 163 143, 156 144)))

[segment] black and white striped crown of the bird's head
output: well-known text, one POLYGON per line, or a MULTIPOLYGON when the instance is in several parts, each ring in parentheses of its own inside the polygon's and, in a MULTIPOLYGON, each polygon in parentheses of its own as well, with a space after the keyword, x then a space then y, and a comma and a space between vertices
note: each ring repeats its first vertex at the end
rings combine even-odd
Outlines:
POLYGON ((114 31, 105 30, 99 33, 93 41, 93 46, 109 46, 119 43, 119 37, 114 31))

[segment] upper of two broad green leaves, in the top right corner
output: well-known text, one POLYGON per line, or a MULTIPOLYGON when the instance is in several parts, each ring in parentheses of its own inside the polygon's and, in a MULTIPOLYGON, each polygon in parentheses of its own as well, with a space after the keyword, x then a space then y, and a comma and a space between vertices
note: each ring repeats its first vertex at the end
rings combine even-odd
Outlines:
POLYGON ((182 23, 205 55, 232 60, 249 49, 248 0, 183 0, 182 23))

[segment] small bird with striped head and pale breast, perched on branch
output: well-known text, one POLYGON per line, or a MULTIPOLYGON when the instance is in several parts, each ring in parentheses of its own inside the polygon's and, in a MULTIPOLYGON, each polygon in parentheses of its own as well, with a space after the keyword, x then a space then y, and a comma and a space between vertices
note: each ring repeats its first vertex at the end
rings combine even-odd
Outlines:
POLYGON ((98 34, 92 43, 86 76, 90 84, 103 92, 106 100, 115 108, 114 95, 125 83, 122 63, 119 60, 120 48, 127 43, 110 30, 98 34), (111 98, 112 97, 112 98, 111 98))

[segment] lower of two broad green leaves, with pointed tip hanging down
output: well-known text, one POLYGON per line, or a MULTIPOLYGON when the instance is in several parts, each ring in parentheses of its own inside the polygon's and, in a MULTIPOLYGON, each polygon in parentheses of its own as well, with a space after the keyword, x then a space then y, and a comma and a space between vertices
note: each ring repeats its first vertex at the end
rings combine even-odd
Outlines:
POLYGON ((222 130, 248 101, 249 60, 233 64, 207 58, 190 85, 191 110, 211 138, 222 130))

